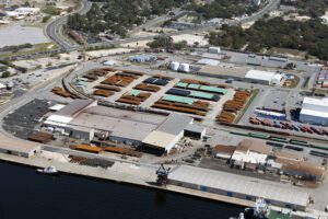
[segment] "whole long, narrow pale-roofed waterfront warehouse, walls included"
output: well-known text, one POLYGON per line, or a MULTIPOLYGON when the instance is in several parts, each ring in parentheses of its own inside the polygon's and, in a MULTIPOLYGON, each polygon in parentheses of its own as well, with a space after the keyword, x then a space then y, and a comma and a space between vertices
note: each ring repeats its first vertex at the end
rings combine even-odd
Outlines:
POLYGON ((181 165, 172 171, 168 175, 168 183, 253 201, 260 197, 273 206, 296 210, 305 210, 309 199, 307 193, 284 187, 278 183, 254 181, 253 177, 189 165, 181 165))

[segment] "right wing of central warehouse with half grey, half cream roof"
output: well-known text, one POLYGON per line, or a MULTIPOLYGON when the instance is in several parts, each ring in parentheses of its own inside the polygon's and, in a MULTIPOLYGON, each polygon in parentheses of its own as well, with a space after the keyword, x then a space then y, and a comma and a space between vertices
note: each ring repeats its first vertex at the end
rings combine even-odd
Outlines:
POLYGON ((171 114, 164 123, 143 139, 143 150, 156 154, 169 153, 171 149, 184 136, 185 128, 192 120, 194 118, 188 116, 171 114))

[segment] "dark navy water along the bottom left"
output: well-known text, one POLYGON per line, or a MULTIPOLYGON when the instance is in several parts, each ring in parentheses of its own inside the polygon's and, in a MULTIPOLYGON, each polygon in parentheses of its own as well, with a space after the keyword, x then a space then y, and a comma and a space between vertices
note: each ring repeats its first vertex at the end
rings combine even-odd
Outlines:
POLYGON ((242 207, 0 162, 0 219, 226 219, 242 207))

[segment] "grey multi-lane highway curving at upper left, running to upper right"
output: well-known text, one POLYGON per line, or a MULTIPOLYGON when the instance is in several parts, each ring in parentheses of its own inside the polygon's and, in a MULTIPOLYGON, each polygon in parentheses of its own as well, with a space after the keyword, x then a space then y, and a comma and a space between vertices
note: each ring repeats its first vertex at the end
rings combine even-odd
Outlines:
MULTIPOLYGON (((280 3, 280 0, 270 0, 266 7, 263 7, 259 12, 253 14, 251 16, 242 18, 239 20, 229 20, 225 23, 227 25, 238 25, 238 24, 244 24, 244 23, 248 23, 248 22, 255 22, 255 21, 261 19, 268 12, 277 9, 279 3, 280 3)), ((85 14, 91 9, 91 5, 92 5, 92 3, 89 2, 87 0, 82 0, 81 8, 73 13, 85 14)), ((185 13, 185 12, 183 12, 183 13, 185 13)), ((61 16, 61 18, 55 20, 54 22, 51 22, 49 25, 47 25, 46 33, 49 36, 49 38, 52 39, 55 43, 57 43, 65 51, 78 50, 81 48, 81 46, 78 45, 77 43, 72 43, 61 33, 61 27, 63 24, 67 23, 67 19, 68 19, 68 15, 61 16)), ((165 20, 165 16, 159 16, 159 18, 154 19, 154 21, 148 22, 143 27, 150 27, 150 25, 157 24, 159 22, 163 22, 164 20, 165 20)), ((175 35, 180 35, 180 34, 192 34, 192 33, 199 33, 199 32, 207 32, 207 31, 215 30, 216 27, 220 27, 220 26, 221 26, 221 24, 218 24, 216 26, 203 25, 200 27, 188 28, 188 30, 184 30, 184 31, 169 33, 167 35, 175 36, 175 35)), ((136 30, 140 30, 140 27, 137 27, 136 30)), ((136 30, 131 31, 131 33, 134 33, 136 30)), ((117 44, 122 44, 122 43, 148 41, 148 39, 152 39, 152 38, 154 38, 154 36, 130 37, 130 38, 126 38, 126 39, 117 39, 117 41, 113 41, 113 42, 104 42, 104 43, 86 45, 84 47, 117 45, 117 44)))

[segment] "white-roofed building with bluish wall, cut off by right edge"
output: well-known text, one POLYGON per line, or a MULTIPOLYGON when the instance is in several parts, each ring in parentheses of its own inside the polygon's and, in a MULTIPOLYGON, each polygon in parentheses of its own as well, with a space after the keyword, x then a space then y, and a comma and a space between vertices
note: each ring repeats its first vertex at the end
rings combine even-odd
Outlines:
POLYGON ((305 97, 300 113, 300 120, 306 124, 328 125, 328 99, 305 97))

